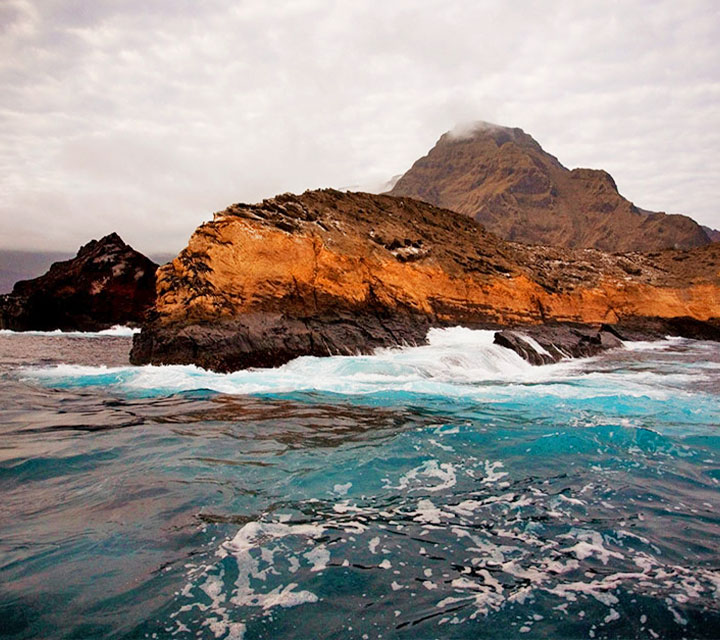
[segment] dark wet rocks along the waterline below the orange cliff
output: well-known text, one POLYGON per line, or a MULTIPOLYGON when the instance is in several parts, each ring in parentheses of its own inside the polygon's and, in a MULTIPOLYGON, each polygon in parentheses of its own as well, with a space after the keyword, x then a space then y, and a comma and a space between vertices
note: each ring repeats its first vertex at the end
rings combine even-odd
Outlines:
MULTIPOLYGON (((171 331, 145 327, 134 336, 131 361, 196 364, 218 372, 277 367, 300 356, 367 355, 381 347, 423 345, 433 326, 452 325, 433 325, 423 316, 409 314, 383 318, 338 313, 306 319, 248 314, 234 322, 195 324, 171 331)), ((470 328, 495 330, 495 344, 515 351, 533 365, 596 356, 623 348, 626 341, 666 337, 720 341, 720 326, 691 318, 637 319, 629 326, 553 323, 498 327, 479 323, 470 328)))

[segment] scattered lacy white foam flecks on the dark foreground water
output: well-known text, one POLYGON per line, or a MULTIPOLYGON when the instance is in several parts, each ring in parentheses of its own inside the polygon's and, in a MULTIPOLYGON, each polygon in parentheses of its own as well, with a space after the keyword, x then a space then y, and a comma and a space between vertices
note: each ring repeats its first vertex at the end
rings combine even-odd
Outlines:
MULTIPOLYGON (((477 474, 472 477, 478 479, 493 478, 496 482, 509 473, 499 471, 504 468, 500 461, 468 458, 453 469, 457 478, 462 477, 461 471, 466 465, 475 467, 477 474)), ((593 485, 569 495, 553 495, 527 486, 499 495, 485 495, 486 489, 482 489, 473 493, 473 498, 461 502, 455 502, 452 495, 437 493, 432 500, 411 497, 413 489, 423 486, 426 479, 443 481, 444 472, 436 471, 442 471, 439 464, 436 467, 423 463, 404 474, 398 473, 395 480, 398 486, 394 488, 402 489, 400 495, 405 499, 392 505, 357 506, 350 505, 346 499, 336 503, 330 512, 318 512, 317 515, 322 515, 319 521, 280 522, 280 514, 276 513, 276 520, 246 524, 234 538, 223 543, 218 552, 223 560, 234 558, 237 563, 237 571, 228 572, 237 576, 234 585, 230 585, 227 578, 223 582, 222 565, 219 569, 207 565, 204 569, 207 577, 195 578, 194 593, 201 591, 211 600, 211 605, 195 602, 190 606, 211 616, 207 619, 212 619, 214 627, 224 632, 231 622, 239 623, 231 618, 229 604, 257 611, 257 614, 244 612, 243 616, 268 616, 276 607, 316 603, 319 596, 301 588, 300 585, 305 584, 303 580, 338 567, 344 570, 358 560, 365 570, 382 571, 376 579, 384 581, 393 593, 418 595, 421 591, 425 598, 434 600, 440 613, 452 611, 454 617, 444 620, 455 620, 453 624, 490 615, 506 606, 526 604, 528 599, 544 593, 564 601, 554 609, 565 615, 574 611, 573 615, 579 618, 584 616, 584 610, 578 612, 577 609, 588 599, 601 603, 606 610, 595 618, 601 628, 621 619, 617 606, 620 589, 632 585, 638 592, 652 592, 671 583, 673 592, 666 599, 666 608, 675 623, 684 626, 688 622, 682 605, 708 594, 714 596, 720 589, 720 575, 715 572, 670 564, 659 550, 656 550, 657 556, 647 555, 642 546, 649 540, 639 534, 625 529, 603 533, 576 526, 575 515, 568 510, 557 514, 554 525, 565 528, 565 533, 548 538, 542 532, 543 527, 528 526, 527 519, 518 518, 515 512, 518 505, 531 505, 545 513, 557 505, 568 509, 584 505, 597 507, 604 504, 607 495, 593 490, 593 485), (427 471, 430 473, 423 473, 427 471), (403 483, 401 478, 407 482, 403 483), (399 485, 403 485, 402 488, 399 485), (580 495, 582 500, 576 497, 580 495), (362 520, 362 527, 357 528, 356 519, 362 520), (482 522, 492 522, 493 526, 476 526, 482 522), (423 546, 415 546, 417 556, 412 562, 401 554, 391 556, 392 561, 383 557, 382 554, 394 553, 394 549, 400 548, 396 537, 391 535, 393 529, 406 540, 401 543, 402 547, 412 545, 413 540, 422 543, 423 546), (328 536, 330 532, 340 531, 352 531, 352 535, 328 536), (446 537, 448 532, 452 535, 446 537), (442 553, 438 553, 439 550, 442 553), (375 558, 368 561, 368 553, 375 558), (334 562, 330 562, 331 556, 334 562), (446 559, 458 556, 466 558, 463 568, 446 559), (606 575, 578 571, 596 561, 610 569, 630 560, 637 565, 637 571, 615 571, 606 575), (499 579, 499 571, 522 580, 524 585, 508 588, 508 581, 499 579), (288 581, 290 575, 293 582, 288 581), (278 582, 282 584, 278 586, 278 582)), ((429 488, 432 485, 424 491, 429 488)), ((319 504, 314 500, 310 502, 319 504)), ((182 597, 192 598, 193 590, 183 591, 182 597)), ((181 611, 187 611, 185 607, 181 611)), ((542 619, 541 615, 534 614, 524 625, 532 629, 542 619)))

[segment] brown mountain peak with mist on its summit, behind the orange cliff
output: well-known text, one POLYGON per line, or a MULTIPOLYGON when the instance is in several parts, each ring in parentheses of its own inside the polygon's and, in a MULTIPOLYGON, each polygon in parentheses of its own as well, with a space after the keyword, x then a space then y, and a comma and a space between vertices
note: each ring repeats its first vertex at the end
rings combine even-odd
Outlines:
POLYGON ((529 244, 653 251, 710 242, 687 216, 637 208, 607 172, 570 171, 522 129, 496 125, 444 134, 389 193, 464 213, 529 244))

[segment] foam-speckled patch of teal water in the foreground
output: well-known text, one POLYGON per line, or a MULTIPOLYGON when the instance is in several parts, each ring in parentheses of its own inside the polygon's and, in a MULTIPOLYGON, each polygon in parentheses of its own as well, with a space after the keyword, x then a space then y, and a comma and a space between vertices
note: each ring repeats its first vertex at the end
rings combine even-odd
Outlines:
MULTIPOLYGON (((393 447, 411 449, 408 445, 426 441, 428 435, 399 435, 393 447)), ((437 428, 433 435, 465 452, 482 449, 473 446, 471 428, 437 428)), ((556 446, 558 453, 564 452, 561 438, 556 446)), ((655 476, 652 447, 632 456, 648 478, 655 476)), ((672 624, 673 635, 683 634, 689 620, 682 609, 701 608, 698 603, 720 597, 715 568, 693 568, 639 533, 658 536, 653 528, 642 528, 644 518, 637 512, 643 502, 635 492, 643 481, 632 481, 636 484, 629 491, 625 483, 630 478, 619 467, 573 469, 571 475, 586 481, 571 488, 567 480, 556 484, 557 477, 531 481, 522 462, 506 466, 472 454, 447 460, 426 456, 407 469, 408 460, 396 458, 400 468, 390 472, 381 491, 369 492, 372 499, 365 495, 366 486, 334 502, 308 500, 282 518, 263 514, 221 543, 215 561, 188 573, 177 606, 197 605, 202 585, 210 580, 222 583, 225 598, 205 612, 223 633, 238 621, 257 629, 277 615, 271 611, 276 607, 321 606, 322 617, 334 601, 335 575, 373 590, 365 606, 387 601, 387 607, 397 607, 397 620, 381 627, 385 632, 397 634, 408 627, 408 637, 425 637, 427 627, 415 634, 410 627, 430 620, 436 629, 468 628, 474 621, 506 614, 504 620, 510 618, 515 627, 510 635, 543 629, 537 633, 548 637, 556 634, 553 626, 544 626, 546 618, 554 618, 554 625, 562 618, 572 630, 591 612, 594 624, 587 627, 594 637, 595 630, 611 634, 618 622, 623 629, 632 627, 626 616, 638 608, 652 612, 649 624, 643 614, 647 626, 641 632, 653 626, 667 630, 672 624), (632 527, 637 527, 634 532, 632 527), (313 577, 326 571, 324 580, 313 577), (359 577, 368 574, 364 580, 359 577), (236 576, 234 582, 229 575, 236 576), (299 590, 299 584, 316 586, 299 590), (243 607, 234 618, 228 617, 228 600, 243 607), (655 602, 662 603, 659 610, 653 608, 655 602)), ((676 507, 675 502, 668 494, 659 498, 657 509, 676 507)), ((683 512, 689 509, 682 507, 683 512)), ((382 620, 382 611, 376 615, 382 620)), ((349 623, 346 632, 352 631, 349 623)), ((492 635, 507 633, 496 629, 492 635)), ((442 635, 438 630, 432 637, 437 634, 442 635)))

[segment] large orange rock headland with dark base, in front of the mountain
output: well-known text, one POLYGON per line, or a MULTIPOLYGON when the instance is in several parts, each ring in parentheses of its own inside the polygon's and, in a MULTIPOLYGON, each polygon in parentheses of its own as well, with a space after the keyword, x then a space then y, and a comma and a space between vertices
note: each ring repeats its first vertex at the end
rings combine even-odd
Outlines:
POLYGON ((158 270, 131 361, 230 371, 419 344, 432 326, 591 323, 597 334, 654 317, 720 317, 720 246, 528 246, 417 200, 309 191, 233 205, 200 226, 158 270))

